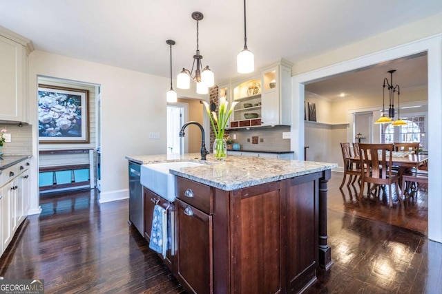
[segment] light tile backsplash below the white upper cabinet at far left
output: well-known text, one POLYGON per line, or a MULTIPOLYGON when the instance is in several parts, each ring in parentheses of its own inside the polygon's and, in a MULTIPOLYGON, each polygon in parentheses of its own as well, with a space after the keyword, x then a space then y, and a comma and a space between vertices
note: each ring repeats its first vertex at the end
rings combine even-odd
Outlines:
POLYGON ((4 155, 32 154, 32 125, 18 123, 0 123, 0 129, 8 130, 11 142, 3 143, 1 151, 4 155))

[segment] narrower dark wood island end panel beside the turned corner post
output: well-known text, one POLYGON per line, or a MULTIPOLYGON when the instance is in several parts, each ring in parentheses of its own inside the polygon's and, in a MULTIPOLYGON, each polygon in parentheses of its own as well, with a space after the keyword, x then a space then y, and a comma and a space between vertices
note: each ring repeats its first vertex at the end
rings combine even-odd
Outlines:
POLYGON ((316 281, 318 267, 318 174, 285 180, 287 291, 316 281))

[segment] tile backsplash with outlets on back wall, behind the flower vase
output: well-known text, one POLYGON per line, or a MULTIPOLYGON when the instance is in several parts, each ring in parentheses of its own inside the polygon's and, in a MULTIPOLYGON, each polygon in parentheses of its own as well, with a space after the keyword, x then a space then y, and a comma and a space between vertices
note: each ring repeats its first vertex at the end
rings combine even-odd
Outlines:
POLYGON ((239 143, 241 150, 248 151, 290 151, 290 139, 282 139, 282 132, 290 132, 289 126, 250 129, 231 129, 230 137, 236 135, 233 143, 239 143))

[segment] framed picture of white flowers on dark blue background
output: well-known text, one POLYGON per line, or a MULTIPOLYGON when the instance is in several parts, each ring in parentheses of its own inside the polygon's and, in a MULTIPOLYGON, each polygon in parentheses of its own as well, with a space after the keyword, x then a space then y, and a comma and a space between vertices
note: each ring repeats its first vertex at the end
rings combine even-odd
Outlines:
POLYGON ((39 143, 89 143, 89 91, 39 85, 39 143))

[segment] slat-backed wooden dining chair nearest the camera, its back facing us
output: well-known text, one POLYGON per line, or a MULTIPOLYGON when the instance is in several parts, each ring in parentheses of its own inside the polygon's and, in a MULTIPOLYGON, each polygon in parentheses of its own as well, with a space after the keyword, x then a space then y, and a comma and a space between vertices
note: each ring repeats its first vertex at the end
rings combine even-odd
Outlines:
POLYGON ((361 178, 361 192, 359 199, 363 198, 365 183, 368 184, 368 194, 370 193, 370 185, 388 185, 388 198, 390 207, 393 206, 392 185, 396 187, 396 195, 400 198, 398 190, 399 176, 392 167, 393 144, 359 144, 361 156, 361 166, 366 165, 366 169, 361 178))

